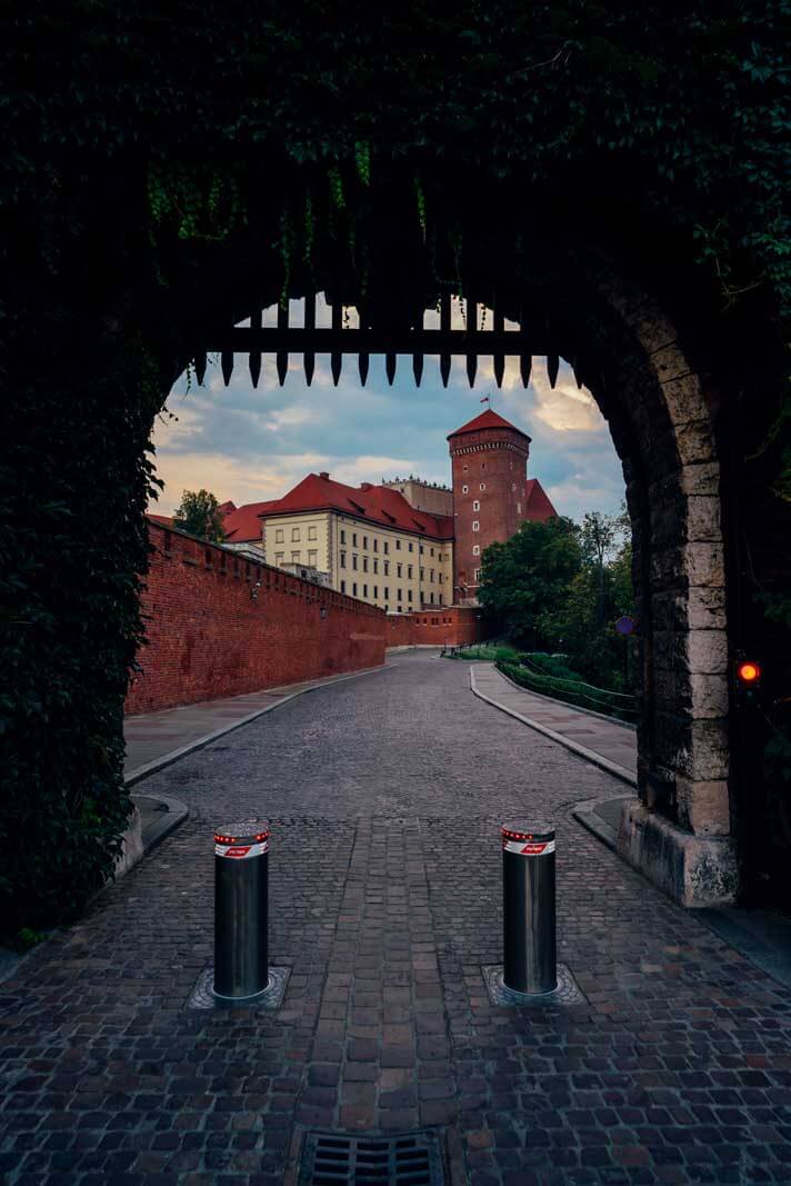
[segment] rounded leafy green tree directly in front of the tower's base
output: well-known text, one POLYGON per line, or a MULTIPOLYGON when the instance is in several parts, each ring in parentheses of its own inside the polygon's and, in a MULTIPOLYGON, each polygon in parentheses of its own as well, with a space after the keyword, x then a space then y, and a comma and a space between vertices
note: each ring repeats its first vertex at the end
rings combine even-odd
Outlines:
POLYGON ((579 537, 578 525, 557 516, 523 523, 505 543, 484 551, 478 598, 513 642, 554 643, 557 606, 581 565, 579 537))

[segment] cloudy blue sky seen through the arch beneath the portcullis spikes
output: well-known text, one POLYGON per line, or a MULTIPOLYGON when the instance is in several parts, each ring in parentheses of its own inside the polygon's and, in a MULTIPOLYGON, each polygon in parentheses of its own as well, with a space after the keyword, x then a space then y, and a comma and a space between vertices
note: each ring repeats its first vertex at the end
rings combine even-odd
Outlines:
MULTIPOLYGON (((292 324, 299 325, 301 302, 292 305, 292 324)), ((455 324, 461 324, 461 315, 457 305, 455 324)), ((427 329, 434 327, 434 317, 426 314, 427 329)), ((264 324, 274 319, 273 307, 264 324)), ((323 301, 317 324, 328 324, 323 301)), ((353 327, 353 312, 350 324, 353 327)), ((454 358, 446 390, 436 358, 426 359, 417 389, 410 358, 398 358, 390 388, 379 356, 371 357, 365 388, 353 356, 344 356, 337 388, 330 359, 321 356, 310 388, 300 357, 292 358, 283 388, 278 385, 274 357, 268 356, 257 389, 244 356, 236 357, 228 388, 218 364, 210 363, 203 387, 193 381, 187 390, 183 376, 167 401, 176 419, 160 416, 155 426, 157 470, 165 490, 152 510, 172 514, 183 490, 200 487, 237 506, 279 498, 319 470, 351 485, 409 473, 449 484, 446 436, 484 410, 479 401, 489 394, 495 410, 532 438, 528 477, 540 479, 560 514, 580 518, 587 510, 618 510, 624 480, 607 425, 591 394, 578 390, 564 363, 553 390, 544 359, 535 358, 525 390, 518 359, 506 358, 498 390, 491 359, 481 357, 471 390, 464 358, 454 358)))

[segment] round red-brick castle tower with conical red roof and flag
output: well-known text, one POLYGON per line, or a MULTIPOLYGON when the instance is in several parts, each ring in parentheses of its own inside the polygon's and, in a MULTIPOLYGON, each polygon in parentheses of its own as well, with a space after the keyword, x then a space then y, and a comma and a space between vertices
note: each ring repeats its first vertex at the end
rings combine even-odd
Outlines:
POLYGON ((509 540, 525 518, 546 518, 555 511, 547 499, 548 514, 528 514, 530 438, 491 408, 451 433, 448 448, 455 536, 453 601, 474 605, 484 550, 509 540))

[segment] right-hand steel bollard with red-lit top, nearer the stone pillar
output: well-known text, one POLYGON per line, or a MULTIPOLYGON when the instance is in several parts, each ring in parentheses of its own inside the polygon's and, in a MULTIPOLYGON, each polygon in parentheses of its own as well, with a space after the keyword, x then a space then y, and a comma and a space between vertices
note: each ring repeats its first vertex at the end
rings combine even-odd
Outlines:
POLYGON ((538 995, 557 986, 555 829, 503 824, 503 982, 538 995))

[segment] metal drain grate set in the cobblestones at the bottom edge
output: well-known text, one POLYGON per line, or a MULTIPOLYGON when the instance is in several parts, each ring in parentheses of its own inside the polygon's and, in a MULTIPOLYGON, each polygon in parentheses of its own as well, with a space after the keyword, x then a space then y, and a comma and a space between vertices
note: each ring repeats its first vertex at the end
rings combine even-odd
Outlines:
POLYGON ((388 1137, 307 1133, 299 1181, 300 1186, 444 1186, 440 1142, 434 1133, 388 1137))

